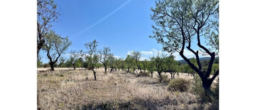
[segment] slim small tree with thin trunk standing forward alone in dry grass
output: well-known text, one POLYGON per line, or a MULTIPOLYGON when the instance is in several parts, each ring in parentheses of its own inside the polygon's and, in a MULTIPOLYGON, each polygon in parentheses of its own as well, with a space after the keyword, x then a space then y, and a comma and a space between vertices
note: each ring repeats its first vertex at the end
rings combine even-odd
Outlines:
POLYGON ((85 52, 83 52, 83 50, 80 51, 82 53, 81 56, 85 58, 85 60, 88 62, 87 68, 93 71, 95 81, 96 72, 94 71, 94 68, 97 66, 97 63, 99 62, 97 46, 98 42, 94 40, 93 42, 85 43, 85 48, 87 49, 85 52))

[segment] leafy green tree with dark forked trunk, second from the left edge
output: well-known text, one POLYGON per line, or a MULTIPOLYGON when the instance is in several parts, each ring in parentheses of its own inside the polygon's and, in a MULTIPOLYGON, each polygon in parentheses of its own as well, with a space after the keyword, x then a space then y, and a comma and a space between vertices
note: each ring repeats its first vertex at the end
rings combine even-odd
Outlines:
POLYGON ((46 43, 43 46, 43 50, 47 53, 51 71, 54 71, 53 65, 58 61, 61 54, 66 53, 66 50, 72 43, 67 37, 62 38, 52 30, 45 34, 45 38, 46 43))

